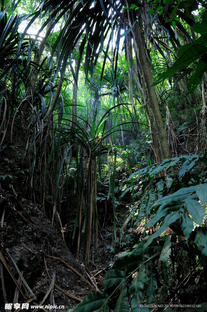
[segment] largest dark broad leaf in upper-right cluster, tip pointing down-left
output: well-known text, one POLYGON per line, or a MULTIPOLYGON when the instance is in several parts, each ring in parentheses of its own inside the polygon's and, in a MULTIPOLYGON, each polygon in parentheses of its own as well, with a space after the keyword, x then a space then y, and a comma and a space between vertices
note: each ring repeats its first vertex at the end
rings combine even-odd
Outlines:
POLYGON ((189 46, 187 50, 172 65, 172 70, 181 70, 200 58, 207 51, 207 47, 195 43, 189 46))

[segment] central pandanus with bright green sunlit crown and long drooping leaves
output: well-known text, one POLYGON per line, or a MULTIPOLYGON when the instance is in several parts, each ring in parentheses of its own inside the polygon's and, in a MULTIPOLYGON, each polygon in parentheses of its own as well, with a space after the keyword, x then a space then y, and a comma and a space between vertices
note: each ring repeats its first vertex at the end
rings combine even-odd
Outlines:
MULTIPOLYGON (((117 108, 117 105, 115 106, 117 108)), ((108 198, 110 194, 112 196, 113 203, 113 224, 114 224, 114 236, 116 238, 116 223, 115 223, 115 168, 116 168, 116 150, 111 144, 106 143, 106 138, 115 131, 119 131, 114 126, 111 129, 106 130, 107 116, 112 111, 112 107, 109 111, 106 111, 103 117, 96 124, 96 115, 98 108, 96 107, 94 122, 92 125, 88 124, 88 131, 76 124, 76 129, 72 130, 75 133, 73 136, 73 142, 76 144, 76 164, 77 172, 76 178, 78 181, 79 190, 79 207, 75 220, 75 227, 73 232, 73 238, 75 237, 76 225, 79 225, 79 237, 78 237, 78 251, 81 241, 81 233, 84 234, 83 244, 83 258, 85 266, 89 265, 89 253, 91 244, 92 229, 96 229, 96 247, 98 244, 98 213, 96 203, 96 189, 97 189, 97 174, 101 180, 101 156, 104 154, 112 155, 113 168, 109 173, 109 190, 108 198), (98 162, 97 162, 98 160, 98 162), (98 170, 97 170, 98 169, 98 170)), ((79 261, 79 257, 78 257, 79 261)))

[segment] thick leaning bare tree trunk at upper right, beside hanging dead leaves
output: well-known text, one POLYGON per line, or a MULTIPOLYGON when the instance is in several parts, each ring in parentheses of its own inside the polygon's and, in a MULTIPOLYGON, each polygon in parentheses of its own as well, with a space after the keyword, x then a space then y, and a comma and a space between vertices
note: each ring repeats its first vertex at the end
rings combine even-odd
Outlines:
MULTIPOLYGON (((136 13, 134 10, 132 11, 132 17, 133 17, 133 23, 134 23, 137 19, 136 13)), ((156 127, 157 136, 158 136, 158 140, 160 144, 161 155, 163 159, 167 159, 167 158, 170 158, 170 151, 169 151, 169 147, 167 144, 164 124, 162 121, 155 88, 151 87, 151 85, 153 84, 153 80, 152 80, 152 75, 150 72, 150 67, 148 64, 145 47, 144 47, 144 43, 142 39, 142 34, 140 31, 138 22, 135 23, 134 25, 133 35, 136 40, 137 47, 139 49, 139 58, 140 58, 140 62, 141 62, 143 73, 144 73, 144 78, 145 78, 146 85, 147 85, 148 96, 149 96, 151 109, 152 109, 152 113, 153 113, 153 117, 155 121, 155 127, 156 127)))

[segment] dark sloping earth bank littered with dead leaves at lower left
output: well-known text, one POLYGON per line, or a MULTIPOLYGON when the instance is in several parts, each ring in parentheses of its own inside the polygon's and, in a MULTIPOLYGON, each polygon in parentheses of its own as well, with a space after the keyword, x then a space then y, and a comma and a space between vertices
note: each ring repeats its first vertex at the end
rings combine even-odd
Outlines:
MULTIPOLYGON (((84 298, 84 295, 95 290, 93 285, 95 283, 91 282, 92 275, 84 266, 78 264, 77 257, 72 255, 60 233, 51 226, 50 220, 42 212, 41 205, 31 203, 24 198, 18 200, 3 190, 0 190, 0 202, 2 256, 9 267, 8 270, 12 272, 16 280, 19 274, 11 258, 22 272, 33 293, 41 291, 37 302, 40 303, 48 291, 53 272, 56 274, 53 299, 49 295, 44 305, 53 305, 51 300, 54 300, 55 305, 64 305, 64 309, 58 309, 58 311, 66 311, 74 307, 84 298), (88 278, 87 274, 91 278, 88 278)), ((101 290, 106 271, 102 263, 95 268, 92 274, 98 273, 96 281, 98 289, 101 290)), ((2 270, 1 278, 4 281, 7 302, 10 303, 13 302, 16 285, 5 266, 2 270)), ((2 290, 1 285, 1 311, 4 310, 4 291, 2 290)), ((23 282, 22 291, 25 297, 30 296, 23 282)), ((19 294, 17 302, 22 303, 25 300, 19 294)))

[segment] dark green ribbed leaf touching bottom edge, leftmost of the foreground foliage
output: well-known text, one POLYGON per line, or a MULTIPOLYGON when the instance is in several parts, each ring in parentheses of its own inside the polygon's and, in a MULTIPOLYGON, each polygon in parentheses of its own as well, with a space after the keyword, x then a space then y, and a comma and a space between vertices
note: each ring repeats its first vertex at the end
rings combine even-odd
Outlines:
POLYGON ((85 296, 82 302, 76 305, 74 309, 68 310, 68 312, 93 312, 104 305, 107 300, 107 293, 93 292, 85 296))

